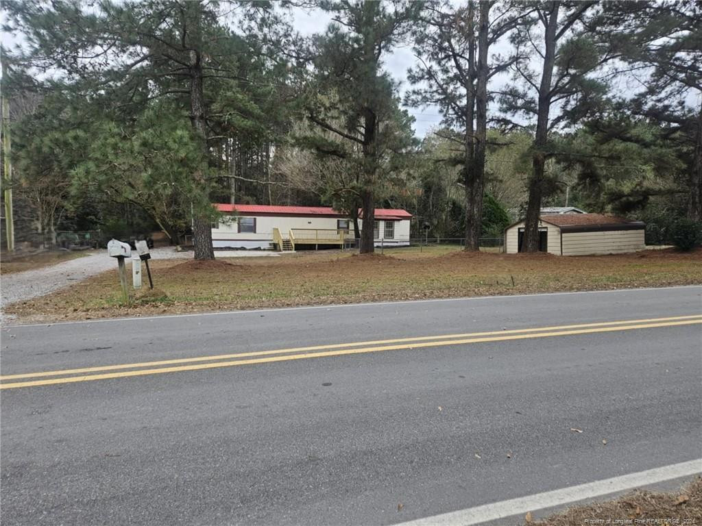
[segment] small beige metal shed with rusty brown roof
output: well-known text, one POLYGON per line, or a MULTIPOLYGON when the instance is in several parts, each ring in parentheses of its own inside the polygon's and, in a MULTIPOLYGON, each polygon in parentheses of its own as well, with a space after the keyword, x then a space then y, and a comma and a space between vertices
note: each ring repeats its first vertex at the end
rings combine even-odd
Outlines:
MULTIPOLYGON (((603 214, 546 214, 539 217, 539 250, 562 256, 621 254, 644 250, 640 221, 603 214)), ((522 252, 524 220, 505 229, 505 252, 522 252)))

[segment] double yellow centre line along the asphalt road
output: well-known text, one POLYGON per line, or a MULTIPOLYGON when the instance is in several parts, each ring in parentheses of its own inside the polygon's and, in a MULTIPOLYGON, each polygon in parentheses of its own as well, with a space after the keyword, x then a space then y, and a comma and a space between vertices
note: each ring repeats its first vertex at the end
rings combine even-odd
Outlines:
POLYGON ((304 360, 323 358, 325 356, 343 356, 345 354, 372 353, 378 351, 396 351, 399 349, 423 349, 482 342, 503 342, 514 339, 531 339, 554 336, 583 335, 597 332, 614 332, 620 330, 649 329, 673 327, 676 325, 702 324, 702 314, 689 316, 672 316, 669 318, 648 318, 644 320, 606 321, 601 323, 580 323, 578 325, 556 325, 515 330, 494 330, 490 332, 467 332, 454 335, 420 336, 396 339, 380 339, 370 342, 352 342, 343 344, 314 345, 276 349, 273 351, 251 351, 246 353, 218 354, 214 356, 197 356, 194 358, 176 358, 140 363, 121 363, 117 365, 100 365, 43 372, 28 372, 18 375, 0 376, 0 389, 17 389, 19 387, 71 384, 146 375, 160 375, 166 372, 197 371, 252 365, 256 363, 304 360), (11 382, 8 382, 11 380, 11 382), (17 380, 21 380, 18 382, 17 380))

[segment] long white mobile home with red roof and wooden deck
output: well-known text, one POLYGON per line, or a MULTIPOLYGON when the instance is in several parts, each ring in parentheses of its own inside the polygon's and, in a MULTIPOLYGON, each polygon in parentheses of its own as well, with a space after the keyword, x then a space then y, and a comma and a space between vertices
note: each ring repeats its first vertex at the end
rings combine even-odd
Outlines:
MULTIPOLYGON (((218 203, 223 217, 212 226, 215 248, 274 248, 294 250, 296 246, 319 248, 343 246, 353 238, 353 222, 347 215, 327 206, 230 205, 218 203)), ((409 245, 406 210, 376 208, 373 238, 376 246, 409 245)), ((363 228, 363 220, 359 220, 363 228)))

